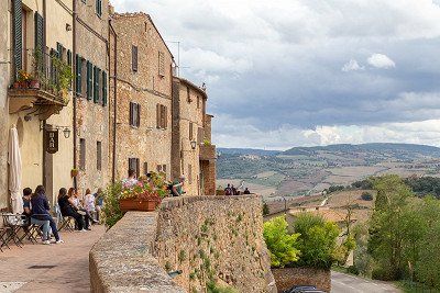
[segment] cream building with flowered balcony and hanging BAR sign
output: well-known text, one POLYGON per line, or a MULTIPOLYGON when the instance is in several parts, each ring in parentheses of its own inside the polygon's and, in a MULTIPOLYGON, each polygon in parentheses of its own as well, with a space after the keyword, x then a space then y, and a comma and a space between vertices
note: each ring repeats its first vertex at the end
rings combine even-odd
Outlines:
MULTIPOLYGON (((6 44, 0 48, 0 133, 8 137, 7 131, 16 126, 23 161, 22 187, 34 189, 44 184, 54 202, 61 187, 73 184, 73 102, 68 81, 73 0, 11 0, 1 1, 0 5, 0 13, 4 13, 0 36, 6 44), (48 135, 58 137, 57 147, 47 148, 48 135)), ((0 207, 9 201, 4 171, 8 139, 2 140, 0 207)))

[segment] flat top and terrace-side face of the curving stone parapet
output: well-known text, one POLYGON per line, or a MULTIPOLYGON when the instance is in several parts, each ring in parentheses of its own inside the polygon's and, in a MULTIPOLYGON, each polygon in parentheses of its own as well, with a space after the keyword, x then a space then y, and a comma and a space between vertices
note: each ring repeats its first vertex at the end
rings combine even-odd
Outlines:
POLYGON ((91 292, 185 292, 151 255, 157 213, 129 212, 92 247, 91 292))

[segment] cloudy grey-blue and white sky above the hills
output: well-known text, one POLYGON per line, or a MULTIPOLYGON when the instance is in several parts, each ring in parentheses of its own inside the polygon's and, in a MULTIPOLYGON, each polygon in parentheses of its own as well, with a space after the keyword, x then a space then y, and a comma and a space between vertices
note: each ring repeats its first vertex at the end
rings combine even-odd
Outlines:
POLYGON ((180 42, 180 75, 207 83, 218 146, 440 146, 440 0, 112 3, 180 42))

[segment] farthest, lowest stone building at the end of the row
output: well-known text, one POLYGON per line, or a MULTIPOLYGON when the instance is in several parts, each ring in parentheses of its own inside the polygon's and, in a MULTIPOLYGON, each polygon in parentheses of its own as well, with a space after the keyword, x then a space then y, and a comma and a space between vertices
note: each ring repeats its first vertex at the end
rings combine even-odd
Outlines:
POLYGON ((216 194, 216 146, 207 100, 206 89, 173 79, 172 177, 185 174, 188 195, 216 194))

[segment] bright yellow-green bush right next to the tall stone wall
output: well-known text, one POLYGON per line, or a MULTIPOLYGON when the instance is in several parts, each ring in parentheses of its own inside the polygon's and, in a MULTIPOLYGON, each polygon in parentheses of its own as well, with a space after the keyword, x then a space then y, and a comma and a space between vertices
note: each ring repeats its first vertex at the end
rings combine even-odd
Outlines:
POLYGON ((297 249, 297 238, 299 234, 290 235, 287 226, 284 216, 264 223, 263 236, 271 253, 272 267, 284 268, 298 260, 300 252, 297 249))

